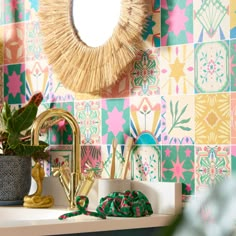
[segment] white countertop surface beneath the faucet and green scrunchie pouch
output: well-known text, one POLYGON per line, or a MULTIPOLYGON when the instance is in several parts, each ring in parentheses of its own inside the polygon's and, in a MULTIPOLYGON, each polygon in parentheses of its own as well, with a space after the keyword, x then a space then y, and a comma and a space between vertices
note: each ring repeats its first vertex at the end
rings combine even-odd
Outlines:
POLYGON ((140 218, 107 217, 107 219, 100 219, 93 216, 80 215, 65 220, 57 219, 67 211, 62 208, 29 209, 17 206, 0 207, 0 235, 60 235, 161 227, 168 225, 173 219, 173 215, 159 214, 140 218))

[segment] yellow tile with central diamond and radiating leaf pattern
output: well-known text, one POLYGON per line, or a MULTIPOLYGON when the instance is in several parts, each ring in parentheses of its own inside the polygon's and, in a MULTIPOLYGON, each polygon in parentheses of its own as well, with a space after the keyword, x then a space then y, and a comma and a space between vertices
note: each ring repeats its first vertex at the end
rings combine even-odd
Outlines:
POLYGON ((230 94, 195 96, 195 142, 230 144, 230 94))

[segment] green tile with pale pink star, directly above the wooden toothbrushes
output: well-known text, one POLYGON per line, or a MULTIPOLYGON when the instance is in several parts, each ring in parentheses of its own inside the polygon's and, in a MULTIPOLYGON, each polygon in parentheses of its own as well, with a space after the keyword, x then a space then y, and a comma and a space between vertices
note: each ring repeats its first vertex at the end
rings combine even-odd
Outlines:
POLYGON ((114 137, 123 144, 130 135, 129 99, 102 100, 102 143, 111 144, 114 137))

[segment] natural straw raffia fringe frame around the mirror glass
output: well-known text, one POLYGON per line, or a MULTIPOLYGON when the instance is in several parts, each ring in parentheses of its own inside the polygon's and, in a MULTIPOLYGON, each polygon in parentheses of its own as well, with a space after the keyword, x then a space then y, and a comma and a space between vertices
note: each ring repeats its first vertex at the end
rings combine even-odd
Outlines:
POLYGON ((115 84, 142 48, 147 2, 121 0, 119 22, 99 47, 87 46, 80 39, 73 24, 72 4, 72 0, 40 0, 44 52, 64 87, 78 93, 97 92, 115 84))

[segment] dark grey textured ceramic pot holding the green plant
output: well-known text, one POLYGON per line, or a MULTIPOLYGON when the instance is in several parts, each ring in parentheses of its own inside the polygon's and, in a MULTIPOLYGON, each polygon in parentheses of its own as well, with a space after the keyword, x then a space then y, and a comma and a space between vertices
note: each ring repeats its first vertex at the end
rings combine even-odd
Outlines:
POLYGON ((21 205, 31 186, 31 158, 0 155, 0 205, 21 205))

